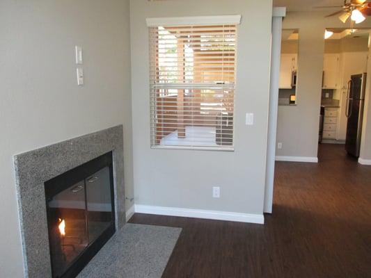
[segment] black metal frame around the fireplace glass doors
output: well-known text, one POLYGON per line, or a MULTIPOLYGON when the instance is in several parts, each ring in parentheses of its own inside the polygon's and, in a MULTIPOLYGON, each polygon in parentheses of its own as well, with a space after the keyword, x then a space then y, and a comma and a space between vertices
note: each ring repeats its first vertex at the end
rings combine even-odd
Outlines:
MULTIPOLYGON (((103 169, 104 167, 109 167, 109 178, 110 178, 110 190, 111 190, 111 206, 112 206, 112 222, 111 225, 104 230, 104 232, 93 241, 93 243, 90 243, 84 252, 82 252, 77 258, 74 260, 72 265, 70 265, 70 268, 66 270, 63 275, 60 277, 55 277, 54 274, 52 275, 53 278, 72 278, 76 277, 81 270, 84 269, 84 267, 88 264, 88 262, 93 259, 95 254, 100 251, 100 249, 104 246, 104 244, 115 234, 116 232, 116 211, 115 211, 115 190, 114 190, 114 182, 113 182, 113 153, 108 152, 106 154, 103 154, 102 156, 99 156, 97 158, 94 158, 91 161, 88 161, 87 163, 84 163, 83 165, 80 165, 78 167, 75 167, 72 170, 68 170, 67 172, 60 174, 57 177, 54 177, 53 179, 49 179, 49 181, 45 181, 44 187, 45 187, 45 202, 46 202, 46 208, 47 208, 47 218, 49 219, 49 200, 51 197, 57 195, 58 193, 61 193, 61 191, 69 188, 72 184, 77 183, 78 181, 81 181, 83 179, 88 179, 92 174, 95 172, 103 169)), ((48 221, 48 233, 50 231, 49 228, 49 221, 48 221)), ((51 245, 49 236, 49 246, 51 245)), ((51 257, 50 263, 52 267, 52 273, 54 273, 54 265, 52 261, 52 254, 51 250, 49 248, 49 254, 51 257)))

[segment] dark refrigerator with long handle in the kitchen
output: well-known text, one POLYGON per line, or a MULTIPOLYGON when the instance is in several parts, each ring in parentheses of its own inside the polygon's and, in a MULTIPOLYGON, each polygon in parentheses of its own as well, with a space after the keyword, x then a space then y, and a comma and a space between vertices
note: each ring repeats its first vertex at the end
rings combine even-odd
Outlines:
POLYGON ((365 102, 366 74, 354 74, 347 86, 347 139, 345 150, 352 156, 359 156, 365 102))

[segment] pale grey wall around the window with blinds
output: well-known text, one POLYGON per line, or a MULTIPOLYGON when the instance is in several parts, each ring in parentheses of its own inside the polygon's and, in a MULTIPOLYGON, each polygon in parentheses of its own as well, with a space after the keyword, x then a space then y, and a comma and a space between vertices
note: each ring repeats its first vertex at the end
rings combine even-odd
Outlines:
POLYGON ((262 214, 265 192, 271 1, 132 0, 132 107, 136 204, 262 214), (150 148, 147 17, 242 15, 235 152, 150 148), (244 114, 255 113, 255 125, 244 114), (212 186, 221 198, 212 198, 212 186))

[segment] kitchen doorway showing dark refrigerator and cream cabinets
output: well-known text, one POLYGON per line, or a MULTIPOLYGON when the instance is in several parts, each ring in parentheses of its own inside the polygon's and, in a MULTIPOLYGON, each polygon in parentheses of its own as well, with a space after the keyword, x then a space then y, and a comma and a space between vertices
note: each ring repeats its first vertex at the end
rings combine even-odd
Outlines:
MULTIPOLYGON (((325 31, 318 141, 319 145, 342 145, 343 152, 354 158, 361 147, 370 31, 325 31)), ((319 161, 324 159, 322 149, 319 146, 319 161)))

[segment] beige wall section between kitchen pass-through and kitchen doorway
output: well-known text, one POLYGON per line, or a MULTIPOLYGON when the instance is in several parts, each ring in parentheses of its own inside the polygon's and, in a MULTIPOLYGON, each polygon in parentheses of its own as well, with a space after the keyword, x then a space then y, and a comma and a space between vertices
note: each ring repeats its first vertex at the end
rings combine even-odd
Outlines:
MULTIPOLYGON (((297 106, 279 106, 277 156, 317 157, 319 106, 321 103, 324 29, 344 28, 337 17, 324 17, 326 12, 291 12, 283 28, 299 28, 297 106)), ((359 27, 369 27, 367 20, 359 27)))

